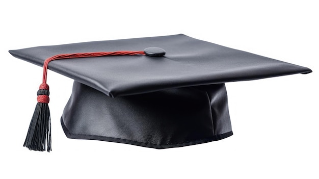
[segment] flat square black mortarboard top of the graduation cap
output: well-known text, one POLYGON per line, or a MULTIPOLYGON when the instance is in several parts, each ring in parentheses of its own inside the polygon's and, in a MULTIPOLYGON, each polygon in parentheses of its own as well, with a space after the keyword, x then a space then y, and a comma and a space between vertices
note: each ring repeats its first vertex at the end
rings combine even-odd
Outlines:
POLYGON ((306 67, 182 34, 39 46, 9 52, 42 66, 46 58, 57 54, 143 50, 153 46, 166 50, 166 55, 57 60, 50 62, 48 67, 111 97, 311 72, 306 67))

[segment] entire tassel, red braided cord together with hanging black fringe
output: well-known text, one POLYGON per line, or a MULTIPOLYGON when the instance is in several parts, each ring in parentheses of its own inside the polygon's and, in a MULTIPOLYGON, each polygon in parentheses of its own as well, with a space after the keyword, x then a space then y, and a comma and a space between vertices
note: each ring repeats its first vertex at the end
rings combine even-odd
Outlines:
POLYGON ((30 150, 51 151, 51 119, 49 110, 49 86, 46 84, 48 64, 51 61, 70 58, 118 56, 118 55, 145 55, 144 51, 117 51, 58 54, 47 58, 43 63, 43 79, 38 91, 38 104, 33 113, 23 146, 30 150))

